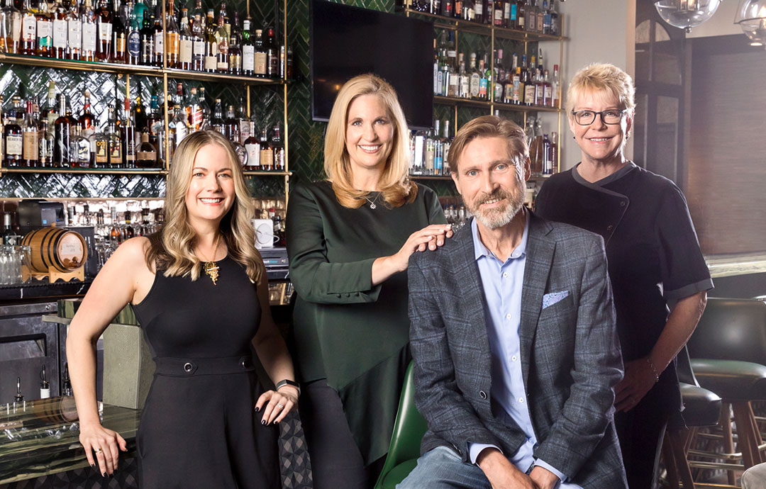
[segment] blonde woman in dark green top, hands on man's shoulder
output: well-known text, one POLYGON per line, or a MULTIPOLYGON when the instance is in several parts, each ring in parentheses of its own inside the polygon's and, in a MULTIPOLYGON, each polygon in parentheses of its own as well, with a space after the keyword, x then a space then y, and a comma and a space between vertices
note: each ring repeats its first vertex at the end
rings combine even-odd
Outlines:
POLYGON ((362 75, 332 107, 327 179, 290 194, 293 341, 316 489, 375 482, 410 361, 409 257, 452 236, 434 191, 409 181, 409 160, 396 92, 362 75))

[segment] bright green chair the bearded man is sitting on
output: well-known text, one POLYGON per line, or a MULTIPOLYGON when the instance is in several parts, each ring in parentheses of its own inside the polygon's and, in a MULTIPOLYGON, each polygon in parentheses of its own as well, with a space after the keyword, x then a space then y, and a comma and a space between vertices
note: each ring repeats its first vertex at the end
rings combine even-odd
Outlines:
POLYGON ((421 455, 421 440, 428 425, 415 407, 413 370, 414 364, 410 363, 401 388, 391 445, 388 445, 388 455, 375 489, 394 489, 415 468, 417 458, 421 455))

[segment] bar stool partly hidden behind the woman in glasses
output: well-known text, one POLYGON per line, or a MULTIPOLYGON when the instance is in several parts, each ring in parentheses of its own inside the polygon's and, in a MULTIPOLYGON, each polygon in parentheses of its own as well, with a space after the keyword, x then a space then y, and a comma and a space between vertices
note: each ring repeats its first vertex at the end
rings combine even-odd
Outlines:
POLYGON ((681 422, 680 416, 675 424, 671 418, 663 439, 663 460, 667 480, 672 489, 679 489, 679 481, 684 489, 693 489, 695 485, 690 467, 694 466, 695 462, 687 458, 689 447, 699 428, 718 424, 721 416, 721 398, 699 386, 689 365, 686 347, 678 354, 676 369, 683 398, 683 422, 686 426, 681 422))

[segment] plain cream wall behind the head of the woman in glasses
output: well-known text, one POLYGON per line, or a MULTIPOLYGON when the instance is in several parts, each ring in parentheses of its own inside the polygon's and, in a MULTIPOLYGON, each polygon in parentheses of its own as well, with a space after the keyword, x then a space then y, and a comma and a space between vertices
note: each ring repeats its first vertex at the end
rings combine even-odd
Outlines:
MULTIPOLYGON (((731 2, 732 0, 728 0, 731 2)), ((569 41, 564 43, 562 96, 566 96, 568 80, 587 64, 603 62, 623 68, 633 76, 635 68, 634 33, 635 0, 569 0, 559 3, 564 14, 564 34, 569 41)), ((540 43, 550 70, 558 64, 559 43, 540 43)), ((561 65, 560 64, 560 65, 561 65)), ((551 73, 552 74, 552 73, 551 73)), ((542 116, 545 132, 556 131, 558 117, 555 113, 542 116)), ((575 166, 580 161, 580 148, 574 139, 567 119, 561 116, 561 170, 575 166)), ((627 156, 633 155, 628 143, 627 156)))

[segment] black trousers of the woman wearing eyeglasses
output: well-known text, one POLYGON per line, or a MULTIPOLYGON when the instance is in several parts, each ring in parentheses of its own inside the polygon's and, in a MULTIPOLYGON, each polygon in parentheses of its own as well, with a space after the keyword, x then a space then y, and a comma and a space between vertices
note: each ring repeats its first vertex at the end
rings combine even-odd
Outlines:
POLYGON ((620 438, 630 489, 653 489, 657 484, 663 436, 669 413, 663 390, 652 389, 628 412, 617 412, 614 425, 620 438))

